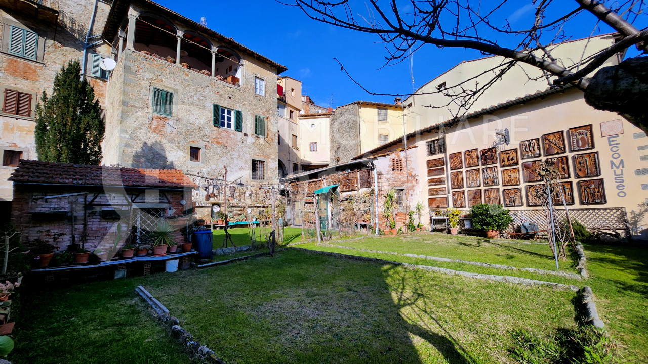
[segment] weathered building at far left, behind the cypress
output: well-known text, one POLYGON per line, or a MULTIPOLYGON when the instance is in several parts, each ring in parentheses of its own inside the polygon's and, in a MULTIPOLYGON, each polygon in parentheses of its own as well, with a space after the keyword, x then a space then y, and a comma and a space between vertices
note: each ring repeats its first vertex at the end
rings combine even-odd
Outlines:
POLYGON ((62 65, 80 60, 105 114, 108 74, 99 62, 110 56, 110 46, 98 36, 109 9, 104 1, 0 1, 0 210, 10 210, 12 182, 7 179, 18 160, 38 157, 36 103, 43 91, 51 94, 62 65))

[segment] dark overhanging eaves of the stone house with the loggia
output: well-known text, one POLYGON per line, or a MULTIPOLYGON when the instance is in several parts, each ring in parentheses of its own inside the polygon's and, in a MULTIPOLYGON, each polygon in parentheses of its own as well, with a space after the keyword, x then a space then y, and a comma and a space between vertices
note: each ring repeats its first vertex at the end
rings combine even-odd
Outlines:
MULTIPOLYGON (((218 32, 215 32, 210 28, 207 28, 204 25, 201 25, 200 23, 196 23, 195 21, 189 19, 188 17, 181 16, 180 14, 174 12, 173 10, 165 8, 164 6, 159 5, 154 1, 151 0, 138 0, 138 1, 140 1, 141 3, 145 3, 146 5, 149 6, 155 6, 159 8, 159 14, 158 14, 159 16, 174 18, 177 21, 186 23, 191 28, 203 32, 207 36, 211 36, 212 38, 214 38, 214 40, 220 41, 224 45, 227 45, 228 47, 231 47, 233 49, 236 49, 237 51, 248 54, 249 56, 252 56, 253 58, 261 62, 268 63, 269 65, 277 69, 277 74, 283 73, 284 71, 288 70, 288 67, 281 65, 280 63, 274 62, 273 60, 270 60, 270 58, 262 56, 261 54, 255 51, 252 51, 248 47, 245 47, 244 45, 234 41, 232 38, 227 38, 226 36, 218 32)), ((122 21, 128 12, 130 3, 131 0, 115 0, 113 1, 113 4, 110 6, 110 12, 108 13, 108 18, 106 19, 106 26, 104 27, 104 32, 101 34, 101 38, 106 42, 108 42, 109 44, 112 44, 113 40, 115 40, 115 36, 119 31, 119 27, 121 27, 122 21)))

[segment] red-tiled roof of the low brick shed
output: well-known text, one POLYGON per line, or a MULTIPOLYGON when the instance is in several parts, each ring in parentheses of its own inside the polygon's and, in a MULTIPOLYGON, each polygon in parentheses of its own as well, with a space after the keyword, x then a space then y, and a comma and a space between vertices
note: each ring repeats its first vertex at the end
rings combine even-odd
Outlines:
POLYGON ((21 159, 9 177, 14 183, 76 186, 196 188, 181 170, 73 165, 21 159))

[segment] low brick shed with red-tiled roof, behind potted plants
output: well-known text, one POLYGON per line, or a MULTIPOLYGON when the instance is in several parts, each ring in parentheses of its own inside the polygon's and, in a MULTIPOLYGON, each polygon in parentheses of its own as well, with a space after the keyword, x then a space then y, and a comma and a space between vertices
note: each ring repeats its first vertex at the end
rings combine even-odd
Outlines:
POLYGON ((65 233, 59 252, 73 242, 86 249, 110 249, 121 224, 119 246, 130 231, 152 230, 161 220, 178 229, 192 212, 196 185, 179 170, 86 166, 21 160, 14 182, 11 222, 21 242, 43 238, 38 231, 65 233), (132 229, 132 227, 136 229, 132 229), (73 238, 74 237, 74 238, 73 238))

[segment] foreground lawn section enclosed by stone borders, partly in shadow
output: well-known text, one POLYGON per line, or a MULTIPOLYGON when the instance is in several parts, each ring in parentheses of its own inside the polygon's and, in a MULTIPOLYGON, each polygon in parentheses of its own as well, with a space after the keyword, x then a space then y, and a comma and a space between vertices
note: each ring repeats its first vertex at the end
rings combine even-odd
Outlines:
POLYGON ((142 284, 227 363, 512 363, 510 332, 574 328, 571 291, 283 251, 142 284))

